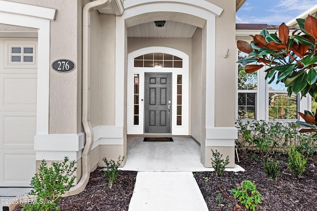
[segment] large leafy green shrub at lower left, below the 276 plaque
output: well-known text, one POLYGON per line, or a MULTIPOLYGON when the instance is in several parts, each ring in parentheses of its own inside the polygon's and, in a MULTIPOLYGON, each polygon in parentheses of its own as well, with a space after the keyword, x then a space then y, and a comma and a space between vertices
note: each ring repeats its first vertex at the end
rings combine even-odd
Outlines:
POLYGON ((34 203, 23 206, 22 211, 59 211, 57 203, 61 195, 71 188, 76 178, 73 175, 76 162, 67 164, 68 161, 68 157, 65 157, 62 163, 53 162, 51 167, 47 166, 45 160, 42 161, 39 172, 32 177, 32 190, 29 192, 30 195, 37 196, 37 199, 34 203))

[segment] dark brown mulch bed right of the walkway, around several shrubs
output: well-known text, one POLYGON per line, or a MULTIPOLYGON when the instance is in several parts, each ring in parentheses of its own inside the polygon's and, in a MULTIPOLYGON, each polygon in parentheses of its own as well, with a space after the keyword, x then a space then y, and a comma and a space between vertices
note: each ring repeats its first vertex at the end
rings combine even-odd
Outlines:
MULTIPOLYGON (((307 169, 296 176, 287 169, 287 155, 276 154, 270 159, 279 161, 281 175, 270 180, 263 171, 263 162, 244 158, 239 163, 245 172, 225 172, 223 177, 216 177, 215 172, 194 172, 196 181, 210 211, 232 211, 231 206, 238 203, 231 194, 236 184, 251 180, 264 196, 259 211, 316 211, 317 210, 317 157, 309 158, 307 169), (221 206, 218 207, 218 195, 221 189, 234 202, 221 195, 221 206)), ((242 208, 246 210, 243 206, 242 208)), ((242 210, 242 209, 241 209, 242 210)))

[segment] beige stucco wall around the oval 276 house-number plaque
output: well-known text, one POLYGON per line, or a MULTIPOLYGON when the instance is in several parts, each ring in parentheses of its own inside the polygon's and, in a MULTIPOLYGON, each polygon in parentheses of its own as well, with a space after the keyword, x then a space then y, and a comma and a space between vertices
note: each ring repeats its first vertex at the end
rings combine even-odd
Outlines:
POLYGON ((68 73, 50 71, 49 133, 77 133, 81 124, 82 8, 89 0, 11 0, 57 9, 51 21, 51 63, 70 59, 76 67, 68 73), (79 98, 80 97, 80 98, 79 98))

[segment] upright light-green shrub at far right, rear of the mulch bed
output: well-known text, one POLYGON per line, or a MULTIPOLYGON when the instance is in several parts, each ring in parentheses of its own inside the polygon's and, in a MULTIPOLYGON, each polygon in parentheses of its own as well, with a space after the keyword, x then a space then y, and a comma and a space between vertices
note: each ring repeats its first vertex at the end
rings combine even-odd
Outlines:
POLYGON ((300 175, 306 169, 306 161, 304 155, 301 155, 298 151, 296 151, 295 146, 290 146, 288 149, 288 169, 295 173, 296 175, 300 175))

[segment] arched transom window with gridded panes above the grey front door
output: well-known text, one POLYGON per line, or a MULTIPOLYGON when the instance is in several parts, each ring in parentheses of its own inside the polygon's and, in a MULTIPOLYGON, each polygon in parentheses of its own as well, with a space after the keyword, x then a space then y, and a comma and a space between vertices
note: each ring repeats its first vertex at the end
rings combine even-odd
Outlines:
POLYGON ((147 53, 134 58, 134 67, 182 68, 183 59, 167 53, 147 53))

